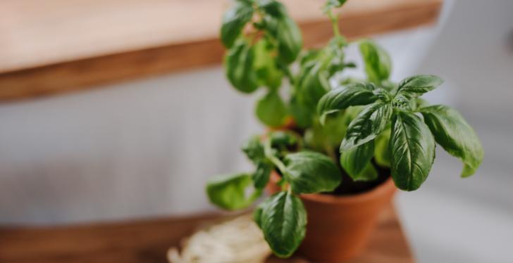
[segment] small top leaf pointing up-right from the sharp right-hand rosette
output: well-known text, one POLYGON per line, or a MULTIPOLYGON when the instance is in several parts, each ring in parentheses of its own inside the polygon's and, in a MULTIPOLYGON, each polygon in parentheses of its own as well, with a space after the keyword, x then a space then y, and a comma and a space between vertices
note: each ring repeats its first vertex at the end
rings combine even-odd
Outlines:
POLYGON ((437 86, 443 83, 443 79, 434 75, 416 75, 402 79, 397 86, 397 95, 407 96, 408 98, 414 98, 425 94, 428 91, 432 91, 437 86))

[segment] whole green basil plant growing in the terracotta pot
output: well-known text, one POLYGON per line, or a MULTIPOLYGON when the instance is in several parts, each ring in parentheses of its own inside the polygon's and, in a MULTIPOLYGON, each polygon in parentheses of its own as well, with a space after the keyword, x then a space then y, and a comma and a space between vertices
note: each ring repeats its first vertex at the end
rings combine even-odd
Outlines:
POLYGON ((462 115, 420 98, 443 83, 439 77, 391 81, 388 53, 365 39, 354 44, 366 79, 341 74, 357 66, 345 59, 350 43, 334 13, 344 2, 328 0, 323 6, 333 38, 319 49, 302 49, 299 27, 278 1, 236 0, 223 17, 230 84, 245 94, 262 94, 258 119, 282 129, 253 136, 242 146, 253 172, 214 177, 206 192, 226 210, 249 207, 276 171, 282 191, 256 207, 254 221, 279 257, 292 255, 305 236, 302 193, 350 194, 354 191, 344 189, 359 184, 370 190, 390 174, 397 188, 414 191, 428 177, 436 143, 462 160, 462 177, 474 174, 483 159, 481 143, 462 115))

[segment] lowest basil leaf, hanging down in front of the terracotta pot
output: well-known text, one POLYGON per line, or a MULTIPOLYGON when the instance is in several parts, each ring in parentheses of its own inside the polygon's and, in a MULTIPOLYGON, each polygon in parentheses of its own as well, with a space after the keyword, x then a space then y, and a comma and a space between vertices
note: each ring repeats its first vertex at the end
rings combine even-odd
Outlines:
POLYGON ((271 195, 253 215, 278 257, 290 257, 304 239, 307 212, 301 199, 290 191, 271 195))

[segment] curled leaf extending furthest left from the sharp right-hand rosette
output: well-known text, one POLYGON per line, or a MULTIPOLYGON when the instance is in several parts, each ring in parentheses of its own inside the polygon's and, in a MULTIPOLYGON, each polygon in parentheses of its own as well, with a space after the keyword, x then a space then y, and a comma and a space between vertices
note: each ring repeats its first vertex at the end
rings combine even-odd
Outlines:
POLYGON ((317 103, 317 113, 321 116, 321 124, 324 123, 326 115, 345 110, 354 105, 366 105, 376 101, 373 90, 376 89, 371 83, 354 83, 341 86, 328 91, 317 103))

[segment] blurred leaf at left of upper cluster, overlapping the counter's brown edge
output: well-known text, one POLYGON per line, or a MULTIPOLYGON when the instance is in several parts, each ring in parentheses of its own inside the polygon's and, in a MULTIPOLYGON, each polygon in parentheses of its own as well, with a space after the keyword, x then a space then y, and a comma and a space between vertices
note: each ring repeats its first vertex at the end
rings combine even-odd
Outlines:
POLYGON ((245 39, 239 39, 225 56, 226 77, 235 89, 252 93, 258 88, 254 70, 254 49, 245 39))

